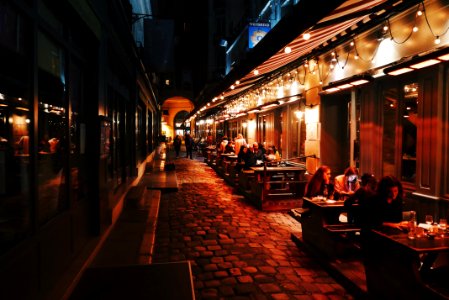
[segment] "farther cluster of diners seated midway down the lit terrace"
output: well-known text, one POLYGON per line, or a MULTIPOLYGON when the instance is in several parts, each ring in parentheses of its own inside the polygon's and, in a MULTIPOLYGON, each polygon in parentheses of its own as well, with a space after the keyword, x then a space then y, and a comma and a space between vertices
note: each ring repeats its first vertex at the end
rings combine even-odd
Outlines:
POLYGON ((263 143, 247 143, 242 134, 238 134, 235 140, 224 136, 217 146, 217 155, 234 153, 237 156, 236 171, 249 170, 253 166, 262 165, 264 162, 279 162, 280 154, 274 145, 267 148, 263 143))

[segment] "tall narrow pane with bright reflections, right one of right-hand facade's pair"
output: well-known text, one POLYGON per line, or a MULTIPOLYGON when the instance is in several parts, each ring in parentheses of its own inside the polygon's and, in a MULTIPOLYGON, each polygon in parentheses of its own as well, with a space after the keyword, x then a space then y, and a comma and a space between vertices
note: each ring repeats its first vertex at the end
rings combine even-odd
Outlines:
POLYGON ((415 182, 416 120, 418 116, 418 84, 404 86, 402 106, 402 173, 403 181, 415 182))

